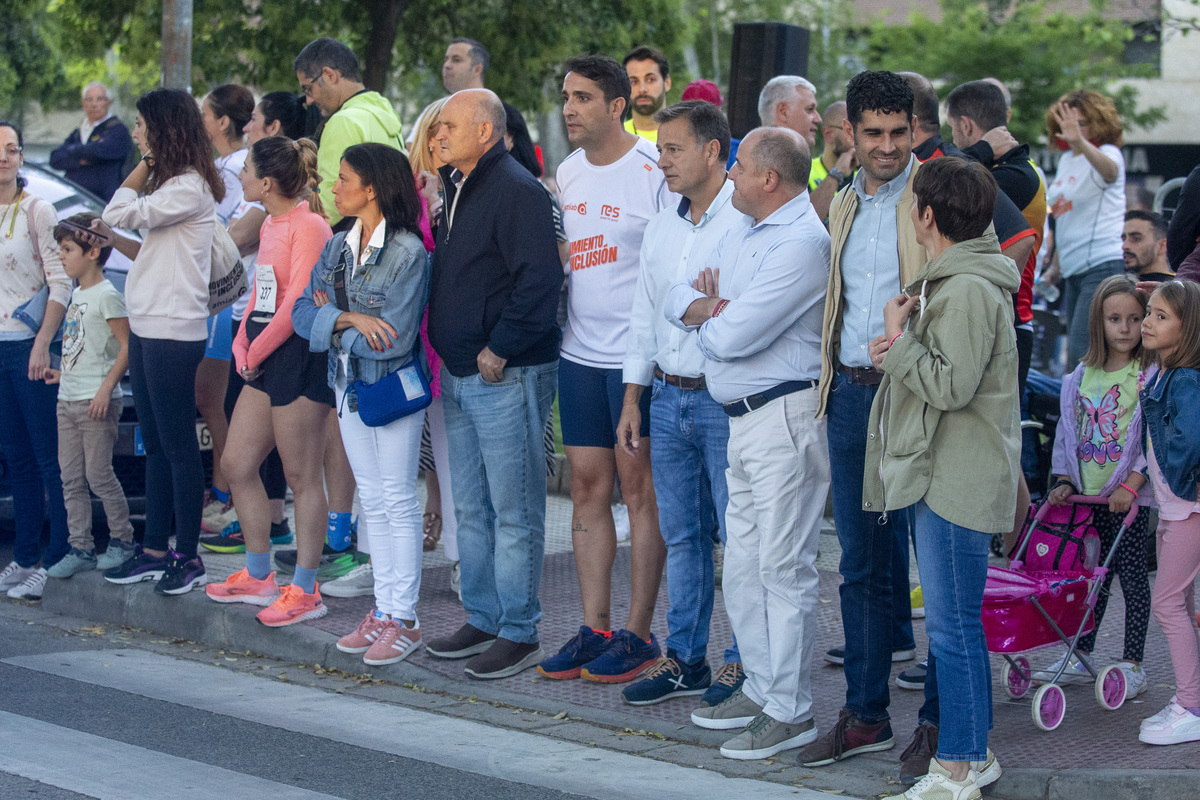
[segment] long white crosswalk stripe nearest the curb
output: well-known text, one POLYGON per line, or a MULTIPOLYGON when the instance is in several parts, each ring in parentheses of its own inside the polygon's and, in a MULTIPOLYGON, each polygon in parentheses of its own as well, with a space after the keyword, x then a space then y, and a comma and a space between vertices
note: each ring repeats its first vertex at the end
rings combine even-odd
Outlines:
POLYGON ((296 733, 313 735, 319 730, 318 735, 330 741, 601 800, 611 800, 612 788, 598 784, 594 780, 598 774, 620 775, 622 794, 629 798, 821 800, 828 796, 811 789, 730 778, 712 770, 264 680, 140 650, 55 652, 5 658, 4 663, 296 733))

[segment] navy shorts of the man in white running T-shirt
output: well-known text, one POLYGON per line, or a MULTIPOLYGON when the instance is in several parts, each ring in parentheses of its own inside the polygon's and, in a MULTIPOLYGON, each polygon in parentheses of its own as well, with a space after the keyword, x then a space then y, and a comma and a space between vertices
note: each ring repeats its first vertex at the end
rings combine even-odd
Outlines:
MULTIPOLYGON (((625 402, 622 371, 588 367, 560 359, 558 362, 558 411, 563 421, 563 445, 607 447, 617 445, 617 423, 625 402)), ((640 434, 650 435, 650 392, 642 392, 640 434)))

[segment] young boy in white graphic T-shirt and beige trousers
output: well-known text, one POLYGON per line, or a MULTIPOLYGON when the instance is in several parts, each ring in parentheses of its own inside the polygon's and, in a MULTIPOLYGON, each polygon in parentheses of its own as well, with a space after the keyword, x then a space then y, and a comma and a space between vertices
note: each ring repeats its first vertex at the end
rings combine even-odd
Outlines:
POLYGON ((130 504, 113 470, 113 445, 124 405, 121 375, 130 361, 130 320, 125 297, 104 278, 112 247, 88 242, 94 213, 77 213, 54 228, 62 266, 79 285, 71 294, 62 333, 62 369, 46 383, 59 385, 59 469, 67 506, 71 552, 47 570, 70 578, 84 570, 120 566, 133 555, 130 504), (91 498, 104 504, 112 539, 98 559, 91 536, 91 498))

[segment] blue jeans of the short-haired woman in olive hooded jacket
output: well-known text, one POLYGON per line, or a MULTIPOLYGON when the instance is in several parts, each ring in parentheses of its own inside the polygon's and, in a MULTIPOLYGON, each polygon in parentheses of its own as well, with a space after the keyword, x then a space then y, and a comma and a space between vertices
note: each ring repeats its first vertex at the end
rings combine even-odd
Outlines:
POLYGON ((991 536, 942 519, 924 500, 913 509, 929 634, 926 702, 919 716, 938 726, 938 758, 983 760, 991 730, 991 667, 979 614, 991 536), (937 709, 941 684, 952 700, 944 715, 937 709))

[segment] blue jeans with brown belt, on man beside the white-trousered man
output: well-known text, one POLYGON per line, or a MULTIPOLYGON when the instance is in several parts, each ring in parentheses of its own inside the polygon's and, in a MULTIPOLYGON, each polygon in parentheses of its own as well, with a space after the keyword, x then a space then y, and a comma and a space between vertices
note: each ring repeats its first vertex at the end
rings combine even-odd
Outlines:
MULTIPOLYGON (((704 390, 655 379, 650 389, 650 465, 659 529, 667 546, 667 649, 685 663, 708 652, 713 616, 713 545, 725 542, 730 417, 704 390)), ((737 643, 725 663, 740 661, 737 643)))

